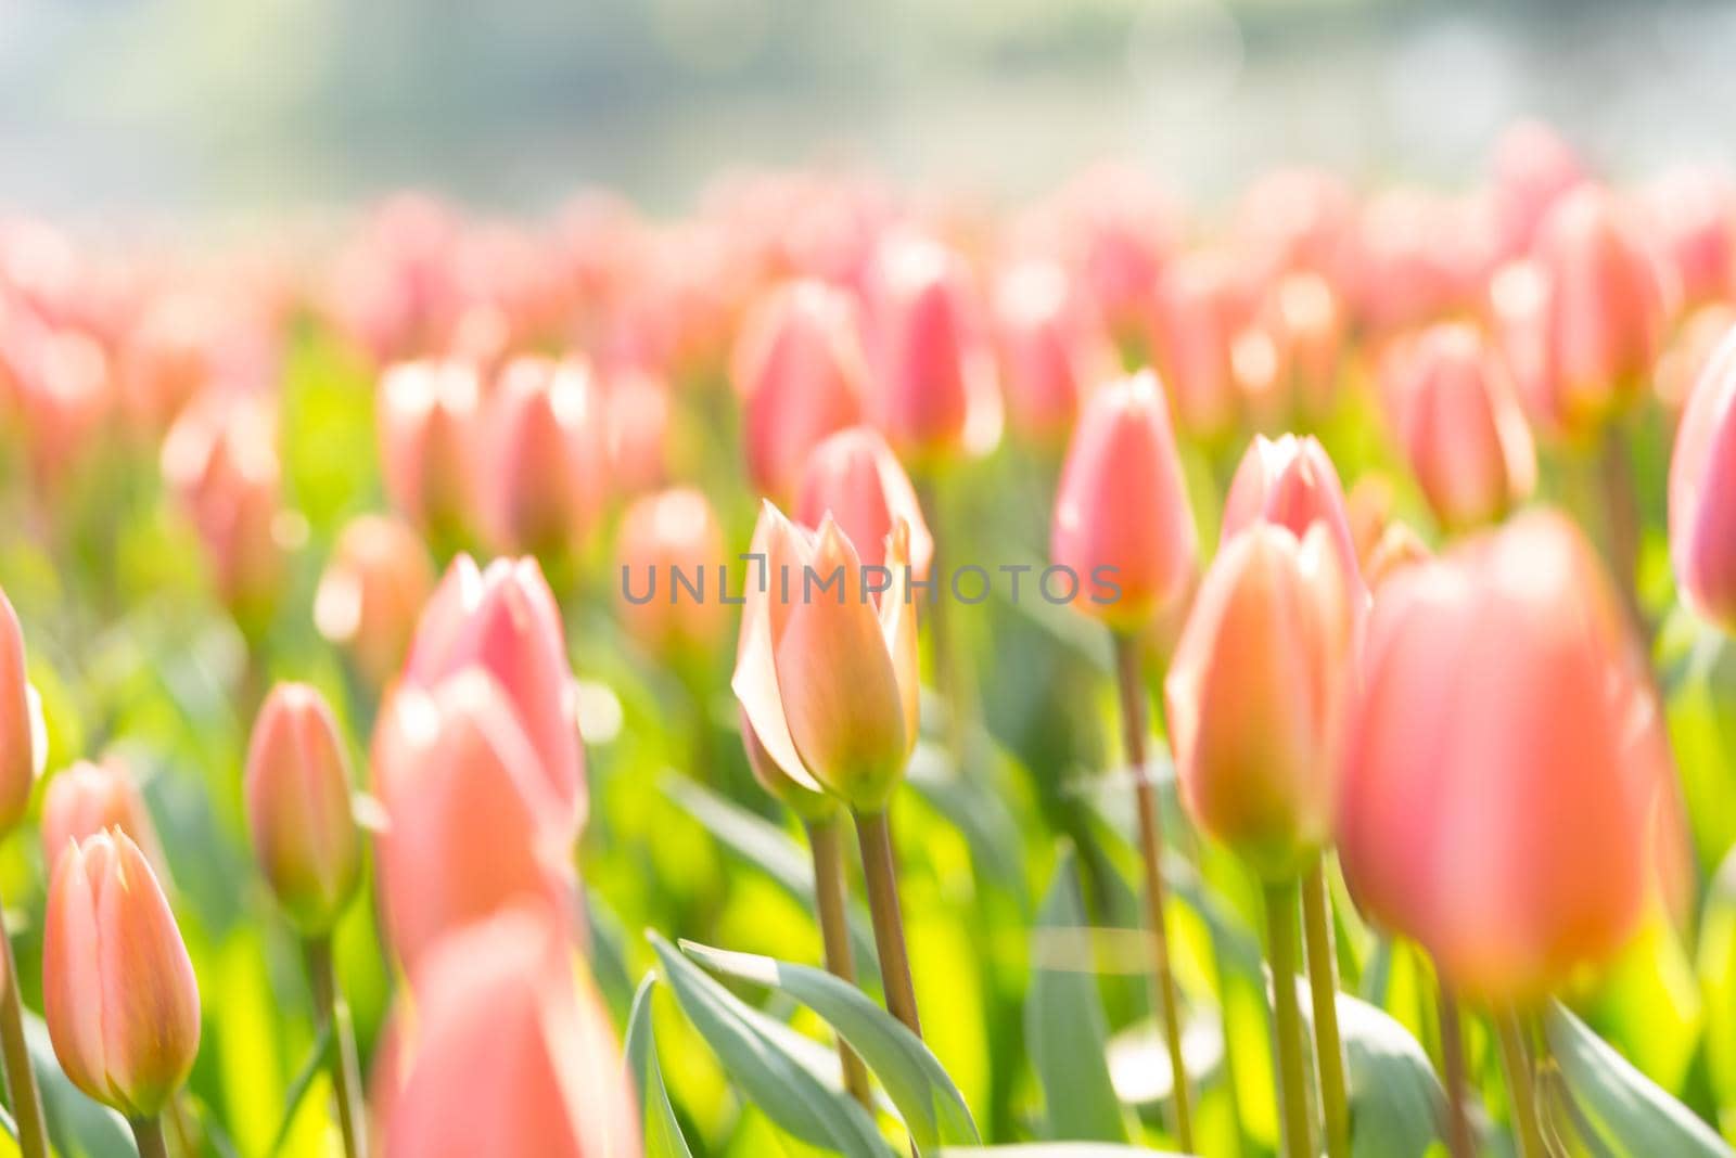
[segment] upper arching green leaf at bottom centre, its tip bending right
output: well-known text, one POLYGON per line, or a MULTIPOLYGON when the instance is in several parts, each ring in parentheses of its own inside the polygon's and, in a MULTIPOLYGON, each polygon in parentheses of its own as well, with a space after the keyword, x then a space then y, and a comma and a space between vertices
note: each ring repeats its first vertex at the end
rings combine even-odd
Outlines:
POLYGON ((981 1141, 963 1094, 922 1038, 854 985, 825 969, 757 953, 731 953, 691 941, 682 941, 681 948, 712 973, 779 990, 819 1014, 885 1085, 918 1149, 981 1141))

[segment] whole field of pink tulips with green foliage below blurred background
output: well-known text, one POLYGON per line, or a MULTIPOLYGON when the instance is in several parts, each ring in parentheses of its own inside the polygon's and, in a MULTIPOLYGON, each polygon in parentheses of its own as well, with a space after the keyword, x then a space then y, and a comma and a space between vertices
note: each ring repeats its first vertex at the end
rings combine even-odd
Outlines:
POLYGON ((0 215, 0 1153, 1736 1156, 1736 180, 0 215))

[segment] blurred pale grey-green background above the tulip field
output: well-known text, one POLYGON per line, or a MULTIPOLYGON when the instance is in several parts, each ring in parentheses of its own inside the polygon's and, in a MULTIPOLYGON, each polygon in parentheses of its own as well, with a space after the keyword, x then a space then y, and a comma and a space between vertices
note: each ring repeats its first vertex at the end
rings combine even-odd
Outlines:
POLYGON ((1733 158, 1733 59, 1736 5, 1651 0, 0 0, 0 205, 677 210, 807 163, 1010 198, 1104 156, 1212 203, 1276 161, 1460 185, 1519 114, 1625 175, 1733 158))

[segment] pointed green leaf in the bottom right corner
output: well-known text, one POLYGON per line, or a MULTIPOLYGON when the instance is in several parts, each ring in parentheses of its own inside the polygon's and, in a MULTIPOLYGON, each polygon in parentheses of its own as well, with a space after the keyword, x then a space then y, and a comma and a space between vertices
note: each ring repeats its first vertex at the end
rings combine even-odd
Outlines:
POLYGON ((1580 1111, 1580 1125, 1594 1132, 1592 1141, 1635 1158, 1736 1155, 1712 1127, 1658 1089, 1568 1009, 1552 1005, 1545 1026, 1550 1051, 1580 1111))

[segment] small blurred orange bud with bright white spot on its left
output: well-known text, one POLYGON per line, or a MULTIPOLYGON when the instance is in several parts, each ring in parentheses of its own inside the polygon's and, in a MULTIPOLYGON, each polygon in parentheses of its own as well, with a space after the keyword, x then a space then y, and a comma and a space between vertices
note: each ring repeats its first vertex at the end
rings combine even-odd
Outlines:
POLYGON ((378 688, 404 662, 432 589, 434 565, 422 539, 389 515, 361 515, 339 534, 319 576, 314 626, 378 688))

